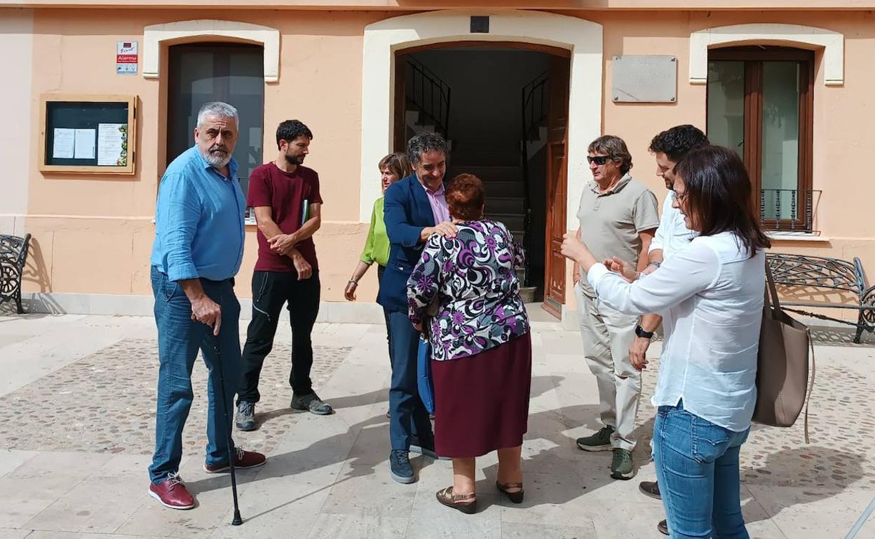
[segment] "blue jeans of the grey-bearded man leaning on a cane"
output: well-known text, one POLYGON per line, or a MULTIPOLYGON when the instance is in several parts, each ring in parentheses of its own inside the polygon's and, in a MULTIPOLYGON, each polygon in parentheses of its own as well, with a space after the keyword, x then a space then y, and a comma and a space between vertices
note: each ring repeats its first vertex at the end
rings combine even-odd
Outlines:
MULTIPOLYGON (((155 323, 158 324, 158 411, 155 417, 155 454, 149 466, 152 483, 160 483, 169 473, 179 471, 182 460, 182 429, 192 408, 192 369, 198 349, 209 370, 207 384, 207 464, 228 462, 228 439, 233 416, 234 392, 242 372, 240 356, 240 303, 232 281, 200 280, 211 300, 221 305, 221 330, 192 320, 192 304, 179 283, 167 280, 152 266, 152 294, 155 295, 155 323), (222 395, 219 373, 215 369, 221 354, 225 378, 225 402, 216 406, 222 395), (222 408, 222 405, 225 408, 222 408), (228 421, 223 413, 228 411, 228 421)), ((231 442, 234 443, 233 441, 231 442)))

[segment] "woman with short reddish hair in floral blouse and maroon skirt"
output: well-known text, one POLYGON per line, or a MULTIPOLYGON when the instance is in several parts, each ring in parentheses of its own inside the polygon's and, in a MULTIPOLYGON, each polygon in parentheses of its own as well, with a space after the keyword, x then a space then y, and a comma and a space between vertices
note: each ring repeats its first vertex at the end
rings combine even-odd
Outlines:
POLYGON ((498 450, 496 486, 522 501, 521 446, 528 423, 532 347, 510 232, 483 218, 483 183, 462 174, 445 197, 455 238, 433 235, 407 283, 409 315, 429 335, 436 453, 452 458, 453 484, 437 501, 474 513, 474 458, 498 450), (437 301, 437 314, 425 311, 437 301))

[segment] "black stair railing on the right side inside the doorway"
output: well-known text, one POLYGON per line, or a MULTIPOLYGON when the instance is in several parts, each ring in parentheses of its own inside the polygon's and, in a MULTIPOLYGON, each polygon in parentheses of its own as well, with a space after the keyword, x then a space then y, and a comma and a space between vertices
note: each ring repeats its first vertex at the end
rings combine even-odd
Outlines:
POLYGON ((521 116, 522 136, 520 141, 522 152, 522 204, 524 217, 522 222, 522 248, 526 252, 526 279, 525 286, 531 286, 531 272, 529 271, 529 255, 532 242, 532 208, 529 204, 529 177, 528 177, 528 142, 536 140, 538 129, 547 120, 549 105, 548 72, 541 73, 532 79, 526 86, 521 88, 521 116))

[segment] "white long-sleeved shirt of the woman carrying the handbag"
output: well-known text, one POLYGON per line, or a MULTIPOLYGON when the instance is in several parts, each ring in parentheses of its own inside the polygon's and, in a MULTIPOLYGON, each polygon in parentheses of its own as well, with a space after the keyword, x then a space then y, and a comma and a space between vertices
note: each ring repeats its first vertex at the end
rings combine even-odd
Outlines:
POLYGON ((628 283, 602 264, 587 274, 599 301, 626 314, 664 317, 652 402, 742 432, 756 404, 766 253, 753 258, 732 232, 699 236, 654 273, 628 283), (666 322, 668 321, 668 322, 666 322))

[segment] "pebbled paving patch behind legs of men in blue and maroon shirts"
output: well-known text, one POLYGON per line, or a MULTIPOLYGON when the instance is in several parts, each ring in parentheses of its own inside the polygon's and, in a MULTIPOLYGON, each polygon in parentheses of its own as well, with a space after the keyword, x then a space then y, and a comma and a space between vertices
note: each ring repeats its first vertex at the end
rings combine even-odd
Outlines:
MULTIPOLYGON (((319 387, 350 349, 316 347, 311 373, 319 387)), ((288 386, 290 346, 276 342, 265 359, 255 419, 262 428, 236 432, 235 443, 269 453, 297 419, 288 386)), ((155 446, 158 346, 153 339, 122 339, 53 371, 5 398, 20 421, 0 423, 0 447, 87 453, 150 454, 155 446), (136 365, 136 368, 132 368, 136 365), (101 395, 101 398, 83 396, 101 395), (52 395, 52 406, 45 396, 52 395)), ((194 402, 186 421, 183 447, 203 454, 207 446, 207 369, 200 358, 192 375, 194 402)))

